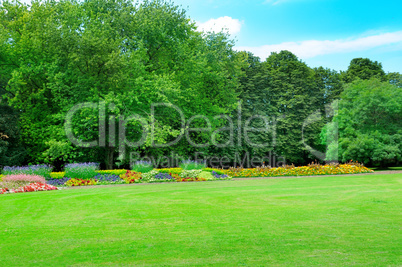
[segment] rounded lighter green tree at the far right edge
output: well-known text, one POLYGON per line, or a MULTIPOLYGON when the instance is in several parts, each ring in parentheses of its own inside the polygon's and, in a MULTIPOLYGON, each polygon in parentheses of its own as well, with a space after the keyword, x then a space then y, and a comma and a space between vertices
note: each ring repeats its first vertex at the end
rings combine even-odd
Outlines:
POLYGON ((341 94, 338 111, 325 136, 339 139, 328 142, 327 158, 357 160, 368 165, 387 166, 402 160, 402 89, 378 79, 357 80, 341 94), (336 127, 337 126, 337 127, 336 127))

